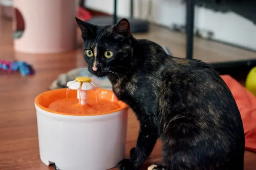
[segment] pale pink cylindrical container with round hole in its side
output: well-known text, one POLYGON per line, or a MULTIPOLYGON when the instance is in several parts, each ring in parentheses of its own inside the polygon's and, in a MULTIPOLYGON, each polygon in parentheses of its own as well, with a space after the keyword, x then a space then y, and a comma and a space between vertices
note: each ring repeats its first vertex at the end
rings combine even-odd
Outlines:
POLYGON ((76 0, 14 0, 13 29, 23 34, 14 48, 24 53, 61 53, 76 46, 76 0), (21 21, 23 20, 23 21, 21 21))

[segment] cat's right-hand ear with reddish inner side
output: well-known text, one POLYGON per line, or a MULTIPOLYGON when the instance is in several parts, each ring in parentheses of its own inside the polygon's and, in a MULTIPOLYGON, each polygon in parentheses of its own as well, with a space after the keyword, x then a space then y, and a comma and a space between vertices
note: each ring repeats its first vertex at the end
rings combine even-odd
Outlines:
POLYGON ((130 23, 127 19, 123 18, 117 23, 112 31, 113 37, 117 40, 123 40, 131 36, 130 23))

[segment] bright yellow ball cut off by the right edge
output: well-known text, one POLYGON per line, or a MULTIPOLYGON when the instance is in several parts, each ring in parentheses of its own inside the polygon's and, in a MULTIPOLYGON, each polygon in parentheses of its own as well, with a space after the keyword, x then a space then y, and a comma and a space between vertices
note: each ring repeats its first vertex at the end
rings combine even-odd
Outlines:
POLYGON ((253 67, 246 78, 245 88, 256 96, 256 67, 253 67))

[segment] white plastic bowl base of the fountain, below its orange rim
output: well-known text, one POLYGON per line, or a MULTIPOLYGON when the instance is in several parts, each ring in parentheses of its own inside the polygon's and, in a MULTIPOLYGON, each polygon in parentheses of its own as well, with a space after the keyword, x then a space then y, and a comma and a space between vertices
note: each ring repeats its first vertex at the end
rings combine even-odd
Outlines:
POLYGON ((59 170, 107 170, 125 157, 128 109, 98 116, 50 113, 35 105, 40 158, 59 170))

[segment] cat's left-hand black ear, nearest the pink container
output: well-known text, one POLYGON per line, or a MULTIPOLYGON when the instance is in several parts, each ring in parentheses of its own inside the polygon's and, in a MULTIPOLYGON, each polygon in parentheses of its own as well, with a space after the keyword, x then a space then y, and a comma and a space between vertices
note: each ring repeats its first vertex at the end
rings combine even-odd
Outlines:
POLYGON ((79 28, 82 32, 82 38, 85 39, 93 39, 96 34, 97 26, 86 23, 76 17, 76 23, 78 24, 79 28))

